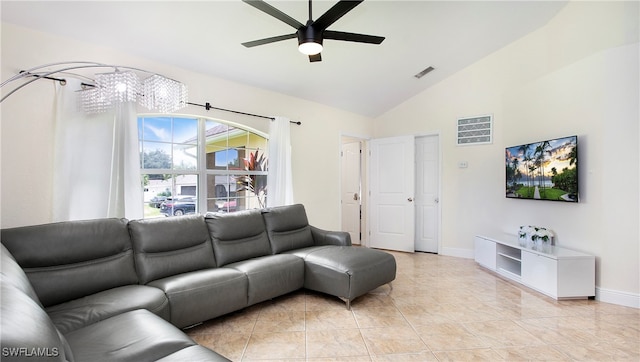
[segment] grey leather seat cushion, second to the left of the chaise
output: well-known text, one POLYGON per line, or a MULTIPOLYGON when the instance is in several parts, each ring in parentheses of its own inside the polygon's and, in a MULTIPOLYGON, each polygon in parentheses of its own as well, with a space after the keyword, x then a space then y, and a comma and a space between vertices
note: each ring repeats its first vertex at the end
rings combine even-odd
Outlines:
POLYGON ((182 328, 247 306, 247 277, 227 268, 183 273, 154 280, 169 298, 171 323, 182 328))

